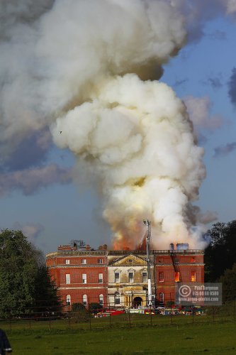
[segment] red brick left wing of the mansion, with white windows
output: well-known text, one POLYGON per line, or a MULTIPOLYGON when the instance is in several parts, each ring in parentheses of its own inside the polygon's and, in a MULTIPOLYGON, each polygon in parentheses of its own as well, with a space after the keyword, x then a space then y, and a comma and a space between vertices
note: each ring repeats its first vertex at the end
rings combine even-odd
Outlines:
POLYGON ((107 299, 106 252, 58 249, 47 254, 46 264, 62 301, 70 304, 104 302, 107 299))

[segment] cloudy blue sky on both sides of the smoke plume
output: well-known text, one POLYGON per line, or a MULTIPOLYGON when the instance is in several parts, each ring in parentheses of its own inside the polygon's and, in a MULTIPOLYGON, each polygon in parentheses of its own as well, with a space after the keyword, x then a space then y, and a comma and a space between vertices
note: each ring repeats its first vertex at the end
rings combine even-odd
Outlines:
MULTIPOLYGON (((190 2, 198 9, 198 1, 190 2)), ((210 3, 214 5, 214 1, 210 3)), ((42 4, 50 5, 52 1, 42 1, 42 4)), ((199 9, 198 16, 192 18, 195 22, 187 26, 189 42, 164 65, 164 75, 160 78, 178 97, 186 100, 188 109, 197 111, 198 104, 203 104, 203 116, 196 114, 193 126, 198 144, 205 149, 203 161, 207 175, 196 204, 203 214, 210 216, 206 218, 209 227, 217 221, 235 219, 236 22, 235 11, 232 9, 227 15, 222 4, 215 1, 218 11, 212 16, 205 16, 201 12, 204 9, 199 9), (193 40, 191 35, 196 29, 201 29, 201 34, 193 40), (187 98, 192 98, 191 107, 187 98)), ((21 55, 16 59, 21 60, 21 55)), ((0 122, 5 125, 4 120, 0 122)), ((45 126, 43 130, 48 131, 45 126)), ((1 229, 22 229, 45 253, 72 239, 84 239, 94 247, 109 244, 111 230, 101 217, 101 200, 96 188, 82 180, 72 182, 70 170, 75 163, 74 155, 67 149, 57 148, 48 132, 42 133, 38 127, 24 136, 27 144, 23 146, 18 138, 21 131, 20 126, 10 136, 7 147, 15 148, 6 155, 6 142, 4 138, 1 141, 4 156, 0 162, 1 229), (45 145, 38 143, 40 135, 45 138, 45 145), (52 166, 55 168, 49 173, 48 170, 42 173, 42 167, 52 166), (40 170, 43 175, 31 176, 30 170, 36 173, 40 170)))

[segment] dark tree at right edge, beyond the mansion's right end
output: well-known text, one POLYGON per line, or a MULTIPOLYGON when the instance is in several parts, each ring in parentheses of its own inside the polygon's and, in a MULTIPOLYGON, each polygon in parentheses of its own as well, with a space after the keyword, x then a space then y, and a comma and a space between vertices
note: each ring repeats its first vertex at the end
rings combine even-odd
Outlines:
POLYGON ((205 280, 215 281, 236 263, 236 221, 213 224, 205 251, 205 280))

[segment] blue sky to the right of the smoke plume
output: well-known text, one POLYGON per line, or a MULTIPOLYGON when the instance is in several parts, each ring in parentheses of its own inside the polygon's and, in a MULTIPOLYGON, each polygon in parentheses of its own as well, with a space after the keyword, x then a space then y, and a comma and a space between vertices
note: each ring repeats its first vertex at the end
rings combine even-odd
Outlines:
POLYGON ((219 129, 201 129, 206 137, 206 141, 200 144, 205 149, 207 176, 201 185, 198 206, 215 211, 218 221, 229 222, 235 219, 235 150, 215 156, 215 149, 235 142, 236 111, 229 95, 236 58, 235 23, 220 16, 205 24, 204 33, 198 43, 186 45, 165 67, 162 80, 174 87, 182 99, 189 95, 209 97, 209 116, 220 115, 223 119, 219 129), (218 32, 221 33, 220 38, 218 32), (217 79, 219 87, 214 87, 211 79, 217 79), (178 84, 181 80, 185 81, 178 84))

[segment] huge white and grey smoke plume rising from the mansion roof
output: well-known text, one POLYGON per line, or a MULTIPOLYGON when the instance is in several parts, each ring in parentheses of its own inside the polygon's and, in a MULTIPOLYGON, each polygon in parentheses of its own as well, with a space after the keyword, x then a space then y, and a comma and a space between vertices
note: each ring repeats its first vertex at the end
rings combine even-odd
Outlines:
POLYGON ((49 125, 57 146, 68 147, 79 168, 96 177, 117 249, 137 248, 146 218, 154 248, 170 241, 203 246, 192 205, 205 177, 203 149, 185 105, 159 82, 162 65, 186 42, 182 3, 42 1, 30 26, 19 21, 10 31, 6 22, 2 31, 3 61, 11 57, 21 73, 1 63, 5 155, 16 129, 21 140, 49 125))

